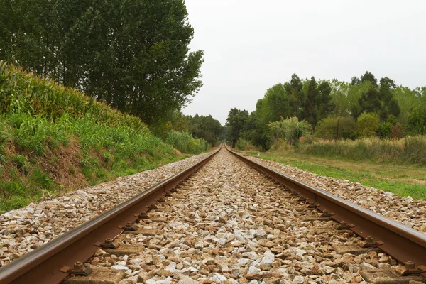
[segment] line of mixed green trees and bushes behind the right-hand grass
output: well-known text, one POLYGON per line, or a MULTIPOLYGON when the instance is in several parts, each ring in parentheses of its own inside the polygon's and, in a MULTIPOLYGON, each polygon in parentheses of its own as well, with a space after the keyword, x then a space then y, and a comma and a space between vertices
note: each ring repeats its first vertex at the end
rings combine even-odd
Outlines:
POLYGON ((234 108, 226 119, 226 139, 233 147, 240 139, 268 149, 285 135, 295 143, 295 136, 307 134, 354 139, 425 133, 426 87, 397 86, 389 77, 378 81, 368 71, 351 82, 302 80, 293 74, 269 88, 251 114, 234 108))

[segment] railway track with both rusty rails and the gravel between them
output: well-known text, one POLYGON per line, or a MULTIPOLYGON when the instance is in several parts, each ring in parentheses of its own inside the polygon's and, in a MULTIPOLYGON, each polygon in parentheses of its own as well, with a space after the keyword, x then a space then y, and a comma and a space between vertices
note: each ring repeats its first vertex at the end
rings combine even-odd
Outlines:
POLYGON ((425 250, 425 234, 222 148, 0 283, 423 283, 425 250))

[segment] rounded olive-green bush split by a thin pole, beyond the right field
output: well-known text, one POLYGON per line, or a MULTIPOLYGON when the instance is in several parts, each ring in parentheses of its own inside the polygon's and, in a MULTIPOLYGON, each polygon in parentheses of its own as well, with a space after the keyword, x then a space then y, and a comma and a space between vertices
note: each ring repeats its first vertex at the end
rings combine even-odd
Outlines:
POLYGON ((330 116, 320 122, 315 128, 315 136, 324 139, 334 139, 337 134, 337 122, 339 121, 339 138, 352 139, 355 137, 355 119, 352 116, 330 116))

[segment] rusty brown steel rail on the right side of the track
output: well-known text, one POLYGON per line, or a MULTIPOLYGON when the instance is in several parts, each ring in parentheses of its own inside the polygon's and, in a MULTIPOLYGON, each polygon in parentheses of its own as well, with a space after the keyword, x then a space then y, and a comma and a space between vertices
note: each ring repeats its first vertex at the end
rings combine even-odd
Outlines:
MULTIPOLYGON (((371 236, 378 242, 378 248, 401 263, 413 261, 416 266, 426 266, 426 234, 256 163, 228 148, 226 150, 261 173, 289 187, 300 197, 305 197, 308 202, 314 202, 320 211, 327 210, 337 222, 345 221, 346 224, 351 224, 350 229, 355 234, 364 239, 371 236)), ((426 276, 426 273, 422 275, 426 276)))

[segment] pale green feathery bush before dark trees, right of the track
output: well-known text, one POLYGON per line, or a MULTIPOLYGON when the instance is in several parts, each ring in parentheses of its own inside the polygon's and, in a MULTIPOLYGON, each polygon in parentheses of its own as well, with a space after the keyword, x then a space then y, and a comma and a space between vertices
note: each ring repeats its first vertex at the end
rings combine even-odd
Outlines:
POLYGON ((272 141, 277 142, 283 139, 290 145, 294 145, 300 137, 307 136, 312 132, 312 126, 307 121, 298 121, 295 116, 271 122, 268 127, 272 141))

